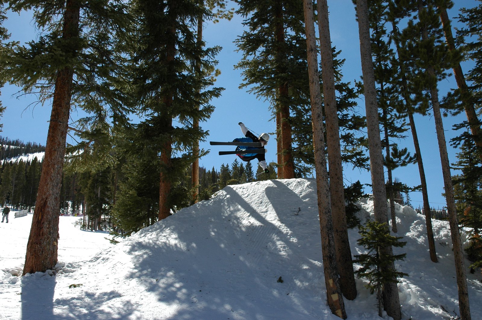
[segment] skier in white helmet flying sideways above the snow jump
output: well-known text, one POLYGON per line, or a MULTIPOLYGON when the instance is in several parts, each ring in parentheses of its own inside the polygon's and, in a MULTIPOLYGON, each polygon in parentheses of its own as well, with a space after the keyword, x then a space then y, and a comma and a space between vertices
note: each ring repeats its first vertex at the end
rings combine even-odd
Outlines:
POLYGON ((240 122, 238 125, 241 127, 241 132, 245 138, 236 138, 232 142, 209 142, 211 145, 235 145, 235 151, 220 151, 219 154, 236 154, 242 161, 251 161, 258 159, 259 166, 261 166, 265 173, 269 173, 268 166, 266 165, 264 146, 268 143, 269 135, 262 133, 259 137, 256 137, 246 126, 240 122))

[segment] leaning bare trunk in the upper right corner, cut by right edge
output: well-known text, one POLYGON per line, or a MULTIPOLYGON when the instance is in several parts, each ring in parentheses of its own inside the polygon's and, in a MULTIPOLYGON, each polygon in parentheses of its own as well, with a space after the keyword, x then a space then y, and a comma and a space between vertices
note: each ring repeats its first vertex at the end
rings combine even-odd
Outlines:
MULTIPOLYGON (((442 21, 443 31, 445 33, 445 41, 447 42, 449 50, 455 51, 455 41, 454 37, 452 36, 452 27, 450 26, 450 19, 447 14, 447 10, 445 7, 440 5, 438 6, 438 9, 440 12, 440 20, 442 21)), ((469 121, 470 132, 474 137, 477 150, 482 157, 482 132, 479 125, 480 121, 475 112, 474 104, 470 99, 469 87, 467 86, 464 73, 462 72, 462 67, 459 63, 454 65, 453 71, 457 87, 462 93, 462 101, 464 102, 465 114, 467 116, 467 120, 469 121)))

